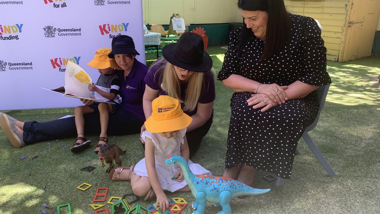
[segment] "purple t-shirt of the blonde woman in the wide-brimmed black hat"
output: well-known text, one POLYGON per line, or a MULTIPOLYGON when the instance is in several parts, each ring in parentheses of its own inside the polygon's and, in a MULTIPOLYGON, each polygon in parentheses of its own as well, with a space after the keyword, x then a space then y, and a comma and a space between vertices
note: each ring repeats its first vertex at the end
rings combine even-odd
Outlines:
MULTIPOLYGON (((160 59, 158 59, 158 60, 160 60, 160 59)), ((158 68, 163 66, 163 64, 157 63, 158 60, 156 60, 150 66, 151 69, 147 73, 147 75, 145 76, 145 79, 144 79, 145 84, 147 84, 147 86, 149 86, 153 90, 160 90, 160 95, 168 95, 165 92, 165 90, 163 90, 161 87, 162 81, 160 81, 160 77, 162 75, 163 69, 158 71, 158 68), (157 73, 157 74, 155 75, 155 73, 157 73)), ((198 102, 199 103, 211 103, 212 101, 215 100, 215 80, 214 80, 214 74, 212 73, 212 71, 204 72, 204 81, 203 82, 204 82, 204 84, 202 86, 202 92, 201 92, 201 96, 199 97, 198 102)), ((181 84, 181 99, 182 100, 184 100, 186 97, 185 95, 186 95, 186 91, 187 91, 187 83, 188 82, 184 82, 181 84)), ((181 108, 182 109, 184 108, 184 103, 181 103, 181 108)), ((188 116, 193 116, 196 113, 197 109, 198 108, 196 106, 193 111, 184 111, 184 113, 187 114, 188 116)), ((212 118, 213 116, 214 116, 214 109, 212 109, 212 113, 211 113, 210 118, 212 118)))

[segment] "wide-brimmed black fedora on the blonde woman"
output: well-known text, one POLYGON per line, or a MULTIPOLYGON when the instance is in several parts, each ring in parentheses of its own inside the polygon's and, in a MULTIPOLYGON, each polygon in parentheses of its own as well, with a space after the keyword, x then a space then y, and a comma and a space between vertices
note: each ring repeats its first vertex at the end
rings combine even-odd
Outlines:
POLYGON ((195 72, 206 72, 212 68, 212 60, 204 51, 203 39, 196 33, 185 32, 177 43, 162 49, 162 55, 169 63, 195 72))

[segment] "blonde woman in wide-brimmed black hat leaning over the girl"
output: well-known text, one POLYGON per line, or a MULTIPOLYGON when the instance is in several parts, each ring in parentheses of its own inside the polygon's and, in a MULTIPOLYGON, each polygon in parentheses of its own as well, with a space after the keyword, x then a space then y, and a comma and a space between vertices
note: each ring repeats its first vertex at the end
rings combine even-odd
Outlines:
MULTIPOLYGON (((204 51, 203 39, 196 33, 184 33, 177 43, 162 50, 145 77, 143 106, 145 118, 153 111, 152 101, 159 95, 169 95, 181 103, 184 113, 193 118, 186 138, 193 155, 212 124, 215 81, 212 60, 204 51)), ((141 127, 141 132, 145 127, 141 127)))

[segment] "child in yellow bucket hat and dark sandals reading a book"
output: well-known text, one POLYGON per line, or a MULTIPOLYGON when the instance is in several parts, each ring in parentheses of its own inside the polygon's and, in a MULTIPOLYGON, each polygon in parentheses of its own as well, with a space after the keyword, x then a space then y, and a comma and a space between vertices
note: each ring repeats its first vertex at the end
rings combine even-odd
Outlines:
POLYGON ((115 59, 108 57, 111 52, 109 48, 97 49, 94 55, 94 59, 87 63, 90 67, 97 68, 100 76, 96 84, 89 84, 88 89, 92 91, 92 97, 97 100, 108 101, 105 102, 93 102, 88 100, 85 106, 78 106, 75 108, 75 125, 78 133, 75 144, 71 147, 71 152, 80 152, 87 147, 91 141, 84 138, 84 114, 93 113, 95 111, 100 114, 100 138, 98 145, 95 147, 95 152, 100 150, 103 144, 108 143, 107 138, 107 126, 108 119, 111 113, 114 113, 120 105, 119 89, 121 81, 119 76, 115 73, 114 69, 122 70, 117 65, 115 59))

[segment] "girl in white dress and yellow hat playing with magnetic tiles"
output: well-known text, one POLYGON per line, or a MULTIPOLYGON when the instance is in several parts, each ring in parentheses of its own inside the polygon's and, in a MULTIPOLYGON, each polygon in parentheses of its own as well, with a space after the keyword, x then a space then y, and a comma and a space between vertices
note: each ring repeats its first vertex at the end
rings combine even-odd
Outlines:
POLYGON ((189 160, 186 127, 192 118, 182 111, 179 101, 161 95, 152 101, 152 109, 152 115, 144 123, 146 130, 141 134, 146 142, 145 158, 135 168, 117 167, 111 170, 109 178, 114 181, 130 180, 135 195, 145 196, 144 200, 157 195, 157 204, 163 208, 164 204, 169 203, 164 190, 190 191, 181 168, 165 165, 169 155, 182 156, 194 174, 212 174, 189 160))

